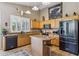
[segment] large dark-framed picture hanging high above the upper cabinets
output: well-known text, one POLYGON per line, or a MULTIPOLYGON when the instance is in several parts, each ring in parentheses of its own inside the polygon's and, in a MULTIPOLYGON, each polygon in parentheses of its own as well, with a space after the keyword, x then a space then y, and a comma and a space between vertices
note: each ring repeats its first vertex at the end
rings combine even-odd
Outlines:
POLYGON ((48 8, 49 20, 62 17, 62 2, 48 8))

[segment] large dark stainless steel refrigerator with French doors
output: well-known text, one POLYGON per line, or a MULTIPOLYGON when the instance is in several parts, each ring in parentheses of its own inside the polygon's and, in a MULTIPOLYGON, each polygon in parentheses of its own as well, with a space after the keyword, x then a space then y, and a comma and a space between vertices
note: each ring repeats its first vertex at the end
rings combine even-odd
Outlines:
POLYGON ((79 54, 79 21, 67 20, 60 22, 60 50, 79 54))

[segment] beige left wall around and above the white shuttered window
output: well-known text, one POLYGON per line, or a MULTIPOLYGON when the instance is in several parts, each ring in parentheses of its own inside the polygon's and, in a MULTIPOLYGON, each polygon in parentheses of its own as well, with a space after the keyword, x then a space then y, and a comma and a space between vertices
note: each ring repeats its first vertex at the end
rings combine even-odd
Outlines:
POLYGON ((20 8, 21 10, 30 10, 32 12, 31 15, 25 15, 31 19, 39 19, 39 12, 34 12, 31 10, 31 7, 21 6, 17 4, 10 3, 0 3, 0 14, 1 14, 1 24, 3 28, 10 30, 10 15, 17 15, 16 8, 20 8), (5 22, 8 23, 8 27, 5 27, 5 22))

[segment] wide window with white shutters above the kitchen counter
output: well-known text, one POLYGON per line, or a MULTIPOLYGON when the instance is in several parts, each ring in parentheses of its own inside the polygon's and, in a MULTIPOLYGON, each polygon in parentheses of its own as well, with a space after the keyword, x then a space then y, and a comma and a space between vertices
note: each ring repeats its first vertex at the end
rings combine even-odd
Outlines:
POLYGON ((10 29, 11 32, 29 32, 30 31, 30 19, 20 16, 10 16, 10 29))

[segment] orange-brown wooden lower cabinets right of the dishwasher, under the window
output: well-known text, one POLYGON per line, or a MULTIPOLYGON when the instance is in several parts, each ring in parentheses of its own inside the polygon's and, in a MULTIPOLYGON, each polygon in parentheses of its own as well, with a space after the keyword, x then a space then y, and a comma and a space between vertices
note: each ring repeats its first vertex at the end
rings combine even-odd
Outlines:
POLYGON ((31 35, 41 35, 39 32, 27 32, 25 34, 18 34, 18 46, 31 44, 31 35))

